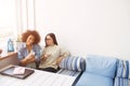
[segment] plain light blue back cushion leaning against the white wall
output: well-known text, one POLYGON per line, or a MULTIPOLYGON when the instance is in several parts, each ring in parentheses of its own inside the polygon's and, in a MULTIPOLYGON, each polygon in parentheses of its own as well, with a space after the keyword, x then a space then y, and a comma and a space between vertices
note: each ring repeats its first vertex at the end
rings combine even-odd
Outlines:
POLYGON ((116 58, 88 55, 86 71, 93 74, 115 77, 116 63, 116 58))

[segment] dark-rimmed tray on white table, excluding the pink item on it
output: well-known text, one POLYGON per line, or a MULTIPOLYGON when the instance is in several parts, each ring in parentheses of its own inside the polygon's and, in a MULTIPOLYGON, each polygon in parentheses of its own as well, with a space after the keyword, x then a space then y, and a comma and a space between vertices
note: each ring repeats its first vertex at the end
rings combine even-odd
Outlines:
POLYGON ((31 75, 35 70, 32 69, 27 69, 25 68, 25 72, 23 74, 14 74, 14 69, 17 68, 18 66, 9 66, 8 68, 3 69, 0 71, 0 74, 2 75, 8 75, 8 76, 13 76, 13 77, 17 77, 17 78, 26 78, 27 76, 31 75))

